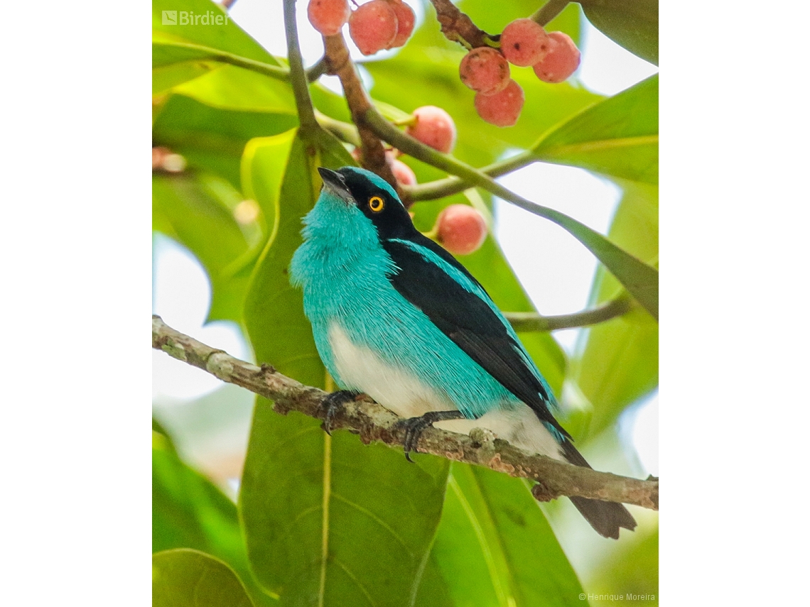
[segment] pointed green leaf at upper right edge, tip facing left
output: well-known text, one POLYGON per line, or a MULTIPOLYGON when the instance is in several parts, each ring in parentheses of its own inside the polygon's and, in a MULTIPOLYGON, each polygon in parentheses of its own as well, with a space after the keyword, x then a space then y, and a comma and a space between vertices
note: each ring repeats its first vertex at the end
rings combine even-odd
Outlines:
POLYGON ((587 108, 541 138, 539 160, 658 183, 658 74, 587 108))

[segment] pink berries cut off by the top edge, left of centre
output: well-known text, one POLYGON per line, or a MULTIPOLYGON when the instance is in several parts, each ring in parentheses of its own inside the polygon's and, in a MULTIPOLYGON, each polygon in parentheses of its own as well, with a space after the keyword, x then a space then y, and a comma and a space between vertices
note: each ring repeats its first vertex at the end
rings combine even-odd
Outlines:
POLYGON ((403 46, 416 21, 413 9, 403 0, 371 0, 356 11, 348 0, 309 0, 307 16, 323 36, 334 36, 348 22, 349 36, 364 55, 403 46))

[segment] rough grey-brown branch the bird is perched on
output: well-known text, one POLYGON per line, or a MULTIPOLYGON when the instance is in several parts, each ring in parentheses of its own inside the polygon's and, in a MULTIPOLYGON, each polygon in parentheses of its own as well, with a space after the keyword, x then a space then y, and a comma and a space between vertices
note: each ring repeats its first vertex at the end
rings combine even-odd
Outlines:
MULTIPOLYGON (((280 414, 298 411, 323 419, 322 401, 326 393, 283 376, 270 365, 257 367, 235 359, 223 350, 198 342, 193 337, 172 329, 160 316, 152 316, 152 347, 169 356, 203 369, 231 384, 274 401, 280 414)), ((365 444, 377 440, 402 448, 404 432, 394 427, 399 417, 369 400, 351 401, 335 416, 334 429, 347 428, 360 435, 365 444)), ((514 477, 531 478, 541 487, 534 491, 542 499, 561 495, 602 499, 608 502, 632 503, 658 510, 659 482, 620 477, 597 472, 549 457, 531 455, 505 440, 495 439, 492 432, 476 429, 471 435, 428 427, 419 439, 420 452, 433 453, 452 461, 482 465, 514 477)))

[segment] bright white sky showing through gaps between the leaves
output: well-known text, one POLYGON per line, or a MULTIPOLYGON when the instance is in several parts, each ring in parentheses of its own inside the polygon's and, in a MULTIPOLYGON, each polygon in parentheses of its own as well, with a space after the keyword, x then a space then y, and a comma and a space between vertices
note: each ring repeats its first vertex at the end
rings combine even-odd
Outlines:
MULTIPOLYGON (((299 36, 305 65, 322 54, 321 36, 308 27, 306 2, 298 2, 299 36)), ((417 23, 423 19, 416 5, 417 23)), ((271 53, 286 56, 279 7, 264 0, 239 0, 232 19, 271 53)), ((586 22, 585 22, 586 23, 586 22)), ((654 74, 658 68, 635 57, 586 23, 578 78, 592 91, 613 95, 654 74)), ((352 45, 347 36, 347 41, 352 45)), ((352 45, 353 47, 353 45, 352 45)), ((353 49, 355 58, 361 55, 353 49)), ((378 53, 384 57, 383 53, 378 53)), ((375 56, 377 57, 377 56, 375 56)), ((323 79, 339 91, 336 78, 323 79)), ((429 100, 426 99, 426 104, 429 100)), ((608 180, 578 168, 535 163, 499 179, 518 194, 561 210, 600 232, 606 232, 620 191, 608 180), (542 192, 538 191, 542 184, 542 192)), ((515 206, 497 201, 496 236, 506 257, 540 313, 565 314, 586 307, 596 268, 595 258, 555 224, 515 206)), ((250 359, 249 348, 235 325, 215 322, 203 326, 211 290, 203 268, 190 253, 165 238, 156 239, 153 312, 168 325, 199 340, 250 359)), ((554 333, 569 352, 578 329, 554 333)), ((180 404, 222 385, 213 376, 153 350, 153 397, 180 404), (168 399, 167 399, 168 397, 168 399)), ((633 442, 648 472, 658 473, 658 397, 634 407, 622 418, 623 433, 633 442)))

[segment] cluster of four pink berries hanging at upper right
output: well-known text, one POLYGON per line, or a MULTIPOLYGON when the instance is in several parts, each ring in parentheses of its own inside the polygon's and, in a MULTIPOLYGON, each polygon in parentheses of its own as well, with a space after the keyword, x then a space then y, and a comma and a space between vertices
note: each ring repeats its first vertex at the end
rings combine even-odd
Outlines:
POLYGON ((563 32, 548 32, 531 19, 516 19, 501 33, 501 49, 472 49, 458 66, 475 91, 475 111, 497 126, 512 126, 523 108, 523 90, 509 77, 509 63, 535 70, 546 83, 561 83, 579 66, 579 49, 563 32))

